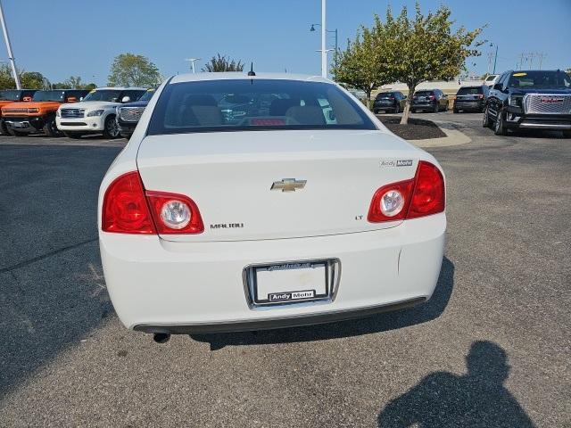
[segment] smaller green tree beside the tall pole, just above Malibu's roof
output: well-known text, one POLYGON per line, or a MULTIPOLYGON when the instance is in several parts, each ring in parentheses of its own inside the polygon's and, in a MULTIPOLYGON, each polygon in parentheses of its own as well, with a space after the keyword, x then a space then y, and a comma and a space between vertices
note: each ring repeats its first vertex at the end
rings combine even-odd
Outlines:
POLYGON ((393 70, 386 62, 385 37, 385 26, 376 16, 372 29, 361 26, 355 40, 348 40, 347 48, 335 53, 337 65, 332 70, 335 80, 364 91, 368 108, 371 92, 394 78, 393 70))

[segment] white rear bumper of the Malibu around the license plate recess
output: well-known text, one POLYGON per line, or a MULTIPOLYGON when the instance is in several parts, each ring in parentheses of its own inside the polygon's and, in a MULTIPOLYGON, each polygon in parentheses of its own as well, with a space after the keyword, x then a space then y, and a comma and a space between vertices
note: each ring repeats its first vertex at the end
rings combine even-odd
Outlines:
POLYGON ((243 242, 173 243, 100 232, 103 273, 128 328, 208 333, 319 324, 430 298, 443 259, 444 213, 374 232, 243 242), (244 268, 339 259, 333 301, 252 308, 244 268))

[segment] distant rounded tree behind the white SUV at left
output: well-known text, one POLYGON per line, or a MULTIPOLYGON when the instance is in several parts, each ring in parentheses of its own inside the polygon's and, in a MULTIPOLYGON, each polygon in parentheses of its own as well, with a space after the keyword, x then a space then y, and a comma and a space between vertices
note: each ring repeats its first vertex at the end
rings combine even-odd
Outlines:
POLYGON ((109 86, 156 86, 161 74, 147 57, 121 53, 113 60, 108 80, 109 86))

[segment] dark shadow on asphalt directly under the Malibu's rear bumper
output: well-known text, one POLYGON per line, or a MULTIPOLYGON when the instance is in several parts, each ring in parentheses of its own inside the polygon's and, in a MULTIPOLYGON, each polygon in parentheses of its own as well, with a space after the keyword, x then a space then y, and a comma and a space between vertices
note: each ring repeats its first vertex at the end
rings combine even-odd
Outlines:
POLYGON ((309 325, 260 332, 191 334, 190 337, 198 342, 210 343, 211 350, 219 350, 228 345, 310 342, 386 332, 426 323, 440 317, 448 305, 448 300, 450 300, 453 284, 454 264, 450 259, 444 257, 432 299, 415 308, 325 325, 309 325))

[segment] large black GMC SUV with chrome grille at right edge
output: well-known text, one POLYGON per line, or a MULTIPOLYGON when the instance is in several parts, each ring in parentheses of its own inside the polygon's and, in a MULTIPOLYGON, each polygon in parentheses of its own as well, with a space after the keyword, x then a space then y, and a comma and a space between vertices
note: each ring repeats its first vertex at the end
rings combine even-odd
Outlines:
POLYGON ((561 70, 506 71, 490 90, 482 124, 499 136, 521 128, 571 137, 571 78, 561 70))

